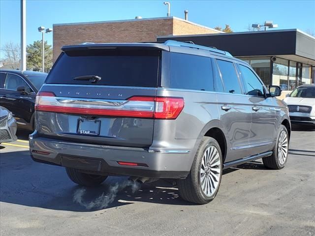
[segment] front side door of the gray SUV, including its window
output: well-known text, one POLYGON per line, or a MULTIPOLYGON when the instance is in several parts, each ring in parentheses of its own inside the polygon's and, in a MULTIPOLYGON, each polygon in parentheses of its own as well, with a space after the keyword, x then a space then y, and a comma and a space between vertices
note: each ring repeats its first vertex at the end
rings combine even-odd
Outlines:
POLYGON ((266 97, 263 83, 250 67, 238 64, 238 68, 252 109, 249 151, 250 155, 255 155, 272 149, 276 132, 276 104, 273 98, 266 97))

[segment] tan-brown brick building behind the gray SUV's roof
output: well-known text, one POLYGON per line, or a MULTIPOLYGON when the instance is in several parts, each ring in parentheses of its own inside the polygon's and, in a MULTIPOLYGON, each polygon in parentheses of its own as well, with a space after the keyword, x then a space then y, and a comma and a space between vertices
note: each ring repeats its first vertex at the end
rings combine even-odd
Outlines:
POLYGON ((83 42, 149 42, 156 41, 158 36, 221 33, 177 17, 54 24, 53 30, 53 61, 58 58, 63 45, 83 42))

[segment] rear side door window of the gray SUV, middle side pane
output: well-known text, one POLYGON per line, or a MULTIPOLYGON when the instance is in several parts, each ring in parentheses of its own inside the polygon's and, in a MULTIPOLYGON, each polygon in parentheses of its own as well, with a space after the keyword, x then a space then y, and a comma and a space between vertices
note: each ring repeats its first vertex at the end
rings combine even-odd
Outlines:
POLYGON ((221 71, 225 92, 241 94, 241 86, 234 64, 225 60, 217 60, 221 71))

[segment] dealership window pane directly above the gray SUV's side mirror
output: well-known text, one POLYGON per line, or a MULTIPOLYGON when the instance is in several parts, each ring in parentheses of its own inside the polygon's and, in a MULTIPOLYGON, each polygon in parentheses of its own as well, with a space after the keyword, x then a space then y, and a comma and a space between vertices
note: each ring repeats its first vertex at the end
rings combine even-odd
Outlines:
POLYGON ((280 86, 281 90, 288 90, 288 65, 288 60, 280 58, 273 64, 272 84, 280 86))

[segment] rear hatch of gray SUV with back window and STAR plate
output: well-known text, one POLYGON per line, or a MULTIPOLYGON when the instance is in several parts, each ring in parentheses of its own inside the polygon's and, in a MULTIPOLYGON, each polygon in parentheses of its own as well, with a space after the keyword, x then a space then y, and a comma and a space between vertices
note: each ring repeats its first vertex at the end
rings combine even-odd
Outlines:
POLYGON ((160 55, 157 48, 65 50, 36 97, 38 134, 85 144, 149 147, 160 55))

